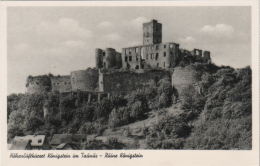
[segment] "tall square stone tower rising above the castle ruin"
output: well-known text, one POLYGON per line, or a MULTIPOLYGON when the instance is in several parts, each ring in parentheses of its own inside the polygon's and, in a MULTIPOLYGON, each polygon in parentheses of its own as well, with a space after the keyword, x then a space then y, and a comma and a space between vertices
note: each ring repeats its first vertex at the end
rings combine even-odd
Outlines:
POLYGON ((162 43, 162 24, 157 20, 143 24, 143 44, 159 44, 162 43))

